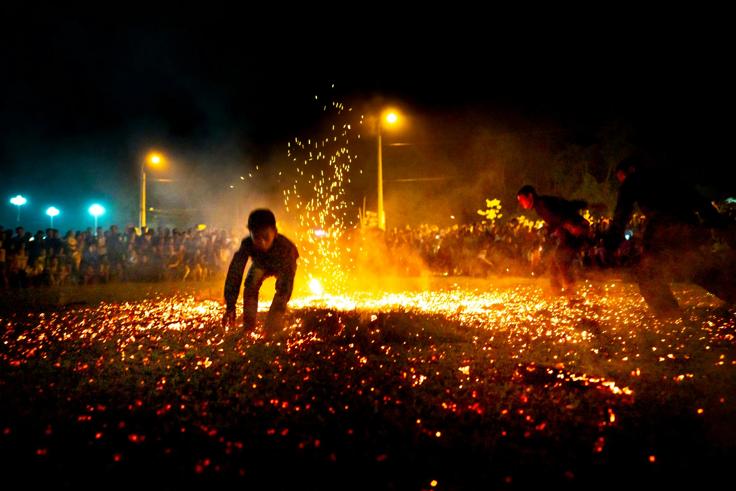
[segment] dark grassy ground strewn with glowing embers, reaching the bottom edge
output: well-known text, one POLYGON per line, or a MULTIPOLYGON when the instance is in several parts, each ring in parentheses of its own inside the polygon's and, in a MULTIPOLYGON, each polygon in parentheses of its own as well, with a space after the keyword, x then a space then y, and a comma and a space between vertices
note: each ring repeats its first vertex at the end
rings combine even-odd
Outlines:
POLYGON ((199 300, 165 285, 38 294, 43 315, 0 316, 2 467, 68 486, 269 490, 682 484, 729 470, 734 322, 713 297, 680 287, 682 318, 664 322, 635 287, 588 284, 527 314, 518 299, 537 299, 534 283, 441 281, 431 288, 515 296, 484 306, 486 324, 461 308, 311 306, 277 339, 241 339, 202 300, 216 285, 194 284, 199 300))

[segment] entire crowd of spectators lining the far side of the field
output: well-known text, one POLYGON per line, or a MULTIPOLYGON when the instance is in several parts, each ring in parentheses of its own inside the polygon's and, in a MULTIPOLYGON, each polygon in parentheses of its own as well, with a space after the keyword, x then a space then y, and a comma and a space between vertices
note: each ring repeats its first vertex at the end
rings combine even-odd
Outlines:
MULTIPOLYGON (((729 222, 736 220, 736 200, 719 208, 729 222)), ((644 216, 634 214, 626 227, 626 240, 615 252, 606 250, 604 238, 610 219, 586 216, 590 222, 573 267, 581 270, 631 266, 638 261, 644 216)), ((554 241, 543 222, 525 217, 506 222, 489 220, 473 225, 387 230, 369 228, 373 244, 370 258, 357 256, 353 264, 390 266, 394 274, 434 275, 543 275, 554 241)), ((0 227, 0 289, 58 284, 98 284, 116 281, 199 281, 224 278, 233 253, 247 230, 169 230, 159 227, 138 235, 109 230, 39 230, 0 227), (241 235, 241 236, 239 236, 241 235)), ((353 230, 352 233, 358 233, 353 230)), ((348 234, 350 236, 352 234, 348 234)), ((364 251, 365 252, 365 251, 364 251)))

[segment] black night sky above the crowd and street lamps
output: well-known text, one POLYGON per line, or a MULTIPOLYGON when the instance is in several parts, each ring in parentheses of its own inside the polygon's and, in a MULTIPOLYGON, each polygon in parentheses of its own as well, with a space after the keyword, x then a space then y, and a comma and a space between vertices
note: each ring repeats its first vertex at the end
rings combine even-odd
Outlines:
POLYGON ((665 22, 620 13, 611 26, 596 16, 517 18, 517 29, 489 12, 361 21, 36 8, 2 17, 5 227, 15 225, 16 194, 29 199, 22 213, 32 228, 45 226, 50 205, 63 211, 60 228, 84 227, 92 202, 108 208, 102 225, 137 223, 138 169, 150 149, 171 160, 161 176, 176 171, 217 194, 319 123, 316 94, 361 109, 397 103, 425 133, 503 120, 556 126, 585 146, 601 124, 625 121, 637 148, 679 172, 694 166, 698 182, 728 192, 723 177, 733 177, 730 43, 717 27, 688 26, 696 19, 685 14, 665 22))

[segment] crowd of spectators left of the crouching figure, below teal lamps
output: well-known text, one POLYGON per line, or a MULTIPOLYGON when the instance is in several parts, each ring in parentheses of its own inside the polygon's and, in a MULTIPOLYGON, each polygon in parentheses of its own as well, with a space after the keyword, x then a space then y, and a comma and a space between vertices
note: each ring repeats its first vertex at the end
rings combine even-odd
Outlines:
POLYGON ((113 225, 60 236, 51 228, 32 235, 0 227, 0 288, 221 278, 240 247, 235 234, 159 227, 138 235, 113 225))

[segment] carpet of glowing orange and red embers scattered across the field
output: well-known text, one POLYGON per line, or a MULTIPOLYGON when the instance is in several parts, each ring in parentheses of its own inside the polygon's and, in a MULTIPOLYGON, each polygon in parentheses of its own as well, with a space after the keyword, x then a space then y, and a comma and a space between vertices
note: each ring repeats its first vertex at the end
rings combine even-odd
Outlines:
MULTIPOLYGON (((1 359, 13 381, 35 376, 32 367, 53 374, 30 382, 65 408, 43 420, 52 433, 40 438, 89 434, 115 465, 146 445, 187 445, 192 472, 232 464, 238 476, 252 472, 245 450, 257 445, 311 448, 332 463, 354 441, 356 455, 371 448, 373 462, 397 459, 356 438, 374 414, 393 435, 436 445, 431 452, 464 449, 468 435, 483 448, 556 445, 574 425, 590 455, 607 455, 609 438, 635 426, 634 398, 718 392, 710 380, 736 367, 734 321, 704 293, 680 291, 683 317, 662 322, 619 281, 584 284, 572 298, 546 297, 534 283, 436 281, 430 291, 330 294, 312 278, 275 337, 226 332, 224 305, 194 297, 15 315, 1 319, 1 359), (205 386, 219 389, 197 389, 205 386), (121 387, 141 399, 121 402, 121 387), (145 423, 154 417, 162 423, 145 423), (233 428, 238 418, 248 423, 233 428)), ((693 417, 709 416, 704 403, 692 401, 693 417)), ((38 455, 59 455, 32 442, 38 455)), ((663 459, 642 452, 645 462, 663 459)))

